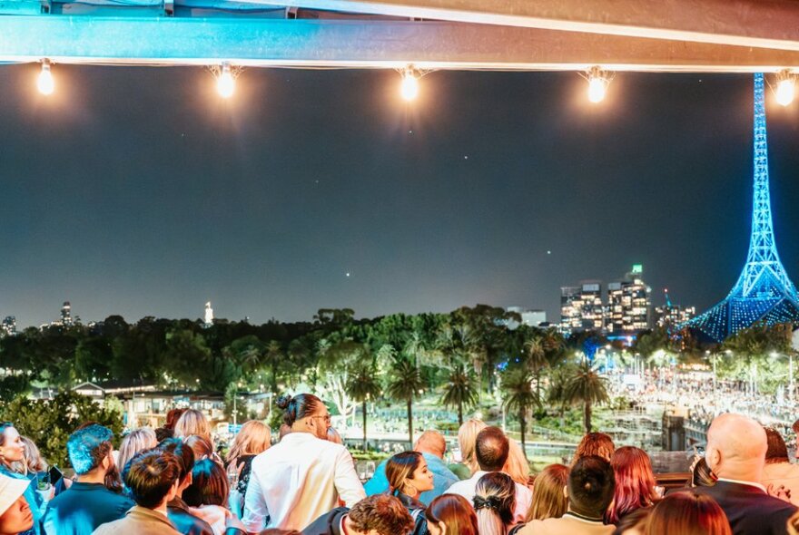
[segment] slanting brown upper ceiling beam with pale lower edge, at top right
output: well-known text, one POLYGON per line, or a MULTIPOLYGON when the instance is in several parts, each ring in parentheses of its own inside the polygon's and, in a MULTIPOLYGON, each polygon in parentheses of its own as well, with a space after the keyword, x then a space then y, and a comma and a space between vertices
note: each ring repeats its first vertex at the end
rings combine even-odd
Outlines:
POLYGON ((799 50, 795 0, 242 0, 783 50, 799 50))

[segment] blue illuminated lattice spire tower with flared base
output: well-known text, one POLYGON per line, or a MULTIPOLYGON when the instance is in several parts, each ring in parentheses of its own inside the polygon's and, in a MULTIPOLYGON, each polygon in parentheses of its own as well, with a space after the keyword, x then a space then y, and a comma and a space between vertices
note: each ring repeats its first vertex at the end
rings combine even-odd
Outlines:
POLYGON ((724 301, 685 326, 723 341, 757 322, 799 322, 799 297, 777 254, 768 192, 763 74, 755 74, 755 185, 746 265, 724 301))

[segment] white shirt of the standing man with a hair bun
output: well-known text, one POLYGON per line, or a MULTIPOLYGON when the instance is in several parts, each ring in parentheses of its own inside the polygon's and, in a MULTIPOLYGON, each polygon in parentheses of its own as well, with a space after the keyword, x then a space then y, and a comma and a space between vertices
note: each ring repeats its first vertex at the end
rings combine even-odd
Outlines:
POLYGON ((290 433, 252 460, 242 522, 255 533, 264 528, 301 531, 338 507, 339 499, 352 507, 365 497, 344 446, 311 433, 290 433))

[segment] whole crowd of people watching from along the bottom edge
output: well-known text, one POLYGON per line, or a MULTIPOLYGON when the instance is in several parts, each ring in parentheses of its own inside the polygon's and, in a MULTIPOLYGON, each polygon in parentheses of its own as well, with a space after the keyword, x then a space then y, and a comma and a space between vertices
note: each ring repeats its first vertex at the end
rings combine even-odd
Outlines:
POLYGON ((2 423, 0 535, 799 535, 799 464, 781 433, 742 414, 715 417, 705 456, 666 491, 644 450, 605 433, 532 477, 518 443, 474 419, 457 465, 426 431, 364 484, 318 397, 279 405, 279 442, 251 421, 224 458, 198 411, 174 410, 118 451, 108 428, 84 423, 66 444, 74 480, 49 489, 35 443, 2 423))

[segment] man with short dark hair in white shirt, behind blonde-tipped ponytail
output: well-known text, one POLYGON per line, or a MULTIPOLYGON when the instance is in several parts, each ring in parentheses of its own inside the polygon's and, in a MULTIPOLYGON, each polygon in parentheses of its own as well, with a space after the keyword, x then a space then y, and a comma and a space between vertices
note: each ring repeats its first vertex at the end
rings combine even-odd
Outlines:
MULTIPOLYGON (((508 461, 509 448, 508 437, 498 427, 486 427, 480 431, 475 444, 475 458, 480 469, 470 479, 454 483, 445 494, 459 494, 473 504, 479 479, 488 472, 502 472, 505 462, 508 461)), ((516 509, 513 511, 513 521, 516 523, 527 518, 533 492, 525 485, 515 484, 516 509)))

